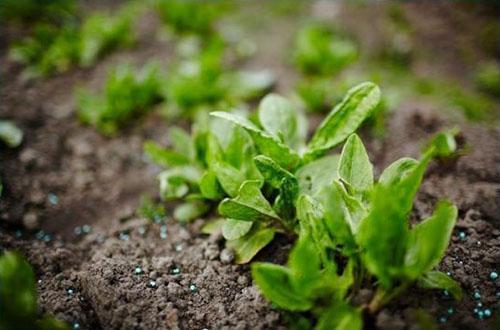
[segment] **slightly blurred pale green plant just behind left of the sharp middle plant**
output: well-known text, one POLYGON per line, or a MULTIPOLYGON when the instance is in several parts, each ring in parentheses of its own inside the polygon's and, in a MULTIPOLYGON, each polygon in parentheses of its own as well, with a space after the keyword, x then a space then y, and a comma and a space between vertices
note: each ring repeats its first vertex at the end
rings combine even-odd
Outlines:
POLYGON ((191 130, 170 129, 170 149, 154 142, 144 146, 151 160, 167 169, 160 173, 164 200, 185 199, 176 207, 179 221, 193 220, 225 197, 235 197, 245 180, 261 179, 253 163, 255 148, 245 130, 203 113, 191 130))

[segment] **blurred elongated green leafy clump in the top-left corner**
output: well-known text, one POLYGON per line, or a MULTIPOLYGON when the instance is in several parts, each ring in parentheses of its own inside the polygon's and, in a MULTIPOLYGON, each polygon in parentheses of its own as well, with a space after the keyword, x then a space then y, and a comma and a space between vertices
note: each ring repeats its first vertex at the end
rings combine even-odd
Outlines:
POLYGON ((69 70, 72 66, 90 66, 98 57, 114 49, 131 45, 133 10, 125 8, 116 16, 94 14, 80 25, 38 24, 31 36, 14 43, 13 60, 27 65, 27 77, 48 76, 69 70))

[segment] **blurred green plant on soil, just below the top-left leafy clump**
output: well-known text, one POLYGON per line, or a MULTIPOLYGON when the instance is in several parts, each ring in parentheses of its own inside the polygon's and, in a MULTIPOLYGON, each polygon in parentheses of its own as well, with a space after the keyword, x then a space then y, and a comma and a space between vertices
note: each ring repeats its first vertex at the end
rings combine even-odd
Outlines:
POLYGON ((109 73, 102 95, 86 89, 76 91, 78 115, 83 123, 106 135, 116 134, 130 120, 144 114, 162 100, 162 79, 157 63, 140 71, 122 64, 109 73))

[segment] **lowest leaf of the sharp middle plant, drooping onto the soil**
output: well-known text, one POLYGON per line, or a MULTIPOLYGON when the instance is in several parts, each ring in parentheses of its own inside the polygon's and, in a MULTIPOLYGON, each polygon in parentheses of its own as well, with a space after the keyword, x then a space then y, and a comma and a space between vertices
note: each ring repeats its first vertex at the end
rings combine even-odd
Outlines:
POLYGON ((256 228, 241 238, 226 241, 226 246, 234 250, 237 264, 246 264, 273 240, 275 232, 274 228, 256 228))

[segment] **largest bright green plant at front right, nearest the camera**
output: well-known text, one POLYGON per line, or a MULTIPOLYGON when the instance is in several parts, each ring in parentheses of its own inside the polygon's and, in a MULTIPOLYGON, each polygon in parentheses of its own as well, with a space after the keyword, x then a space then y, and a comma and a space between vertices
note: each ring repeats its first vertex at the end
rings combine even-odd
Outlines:
POLYGON ((448 246, 456 207, 440 202, 429 218, 411 228, 408 223, 427 165, 455 150, 455 133, 438 134, 420 160, 397 160, 377 183, 361 140, 351 135, 330 169, 333 182, 298 199, 300 238, 288 266, 252 265, 263 295, 281 308, 311 311, 317 329, 361 329, 363 311, 376 313, 414 283, 460 298, 458 284, 434 270, 448 246), (375 290, 371 302, 352 306, 367 284, 375 290))

